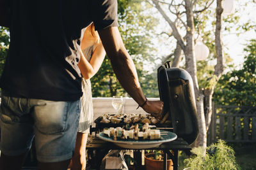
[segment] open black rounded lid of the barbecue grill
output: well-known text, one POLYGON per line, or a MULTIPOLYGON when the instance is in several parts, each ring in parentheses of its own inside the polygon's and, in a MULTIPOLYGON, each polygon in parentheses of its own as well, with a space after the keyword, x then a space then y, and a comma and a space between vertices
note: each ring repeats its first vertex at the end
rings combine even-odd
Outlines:
POLYGON ((193 80, 184 69, 170 67, 170 62, 157 69, 158 89, 164 102, 164 115, 172 118, 173 132, 189 144, 198 136, 193 80))

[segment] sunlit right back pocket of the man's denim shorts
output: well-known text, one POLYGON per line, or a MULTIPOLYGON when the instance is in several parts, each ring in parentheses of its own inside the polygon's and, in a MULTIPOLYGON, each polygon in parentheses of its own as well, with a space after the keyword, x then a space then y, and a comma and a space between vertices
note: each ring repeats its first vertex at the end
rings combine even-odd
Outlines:
POLYGON ((35 106, 35 127, 43 134, 67 131, 68 102, 44 101, 35 106))

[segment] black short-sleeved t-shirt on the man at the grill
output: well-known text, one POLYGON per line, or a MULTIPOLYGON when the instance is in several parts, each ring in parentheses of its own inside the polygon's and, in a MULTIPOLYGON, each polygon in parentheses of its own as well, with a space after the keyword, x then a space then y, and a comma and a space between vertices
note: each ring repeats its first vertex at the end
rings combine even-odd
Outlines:
POLYGON ((10 47, 0 86, 13 96, 74 101, 82 95, 81 29, 117 26, 116 0, 9 0, 10 47))

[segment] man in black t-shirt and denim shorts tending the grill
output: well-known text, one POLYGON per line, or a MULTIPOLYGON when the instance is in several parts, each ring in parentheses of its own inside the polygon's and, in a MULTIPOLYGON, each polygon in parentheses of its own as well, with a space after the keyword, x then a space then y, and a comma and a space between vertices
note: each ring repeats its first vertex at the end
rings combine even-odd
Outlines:
POLYGON ((143 95, 122 42, 116 0, 0 0, 0 8, 0 25, 10 27, 0 80, 0 170, 20 169, 34 134, 40 169, 67 169, 82 94, 79 38, 91 22, 122 87, 143 110, 161 116, 163 103, 143 95))

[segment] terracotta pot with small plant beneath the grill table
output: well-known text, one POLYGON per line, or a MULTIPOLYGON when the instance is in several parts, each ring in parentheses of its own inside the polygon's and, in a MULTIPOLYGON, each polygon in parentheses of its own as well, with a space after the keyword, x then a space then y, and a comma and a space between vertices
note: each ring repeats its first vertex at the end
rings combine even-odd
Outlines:
MULTIPOLYGON (((154 150, 145 154, 145 166, 147 170, 163 169, 163 151, 154 150)), ((173 170, 172 159, 167 159, 167 169, 173 170)))

